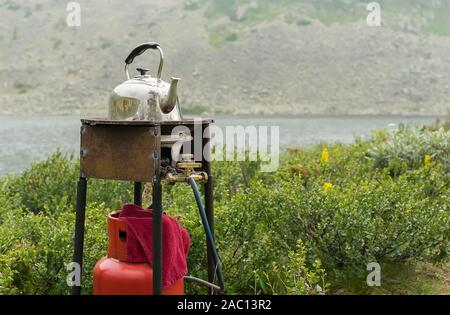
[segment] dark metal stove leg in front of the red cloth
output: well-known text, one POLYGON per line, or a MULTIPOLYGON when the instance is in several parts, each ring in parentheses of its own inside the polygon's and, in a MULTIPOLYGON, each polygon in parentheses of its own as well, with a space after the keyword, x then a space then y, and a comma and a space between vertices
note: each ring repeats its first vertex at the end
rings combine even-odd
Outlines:
POLYGON ((162 293, 162 187, 153 183, 153 295, 162 293))

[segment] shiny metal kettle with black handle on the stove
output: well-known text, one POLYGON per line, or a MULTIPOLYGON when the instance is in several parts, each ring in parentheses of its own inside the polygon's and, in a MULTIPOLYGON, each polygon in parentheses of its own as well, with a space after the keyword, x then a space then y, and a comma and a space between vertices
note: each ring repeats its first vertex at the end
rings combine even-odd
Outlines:
POLYGON ((161 80, 164 65, 164 53, 158 43, 144 43, 125 59, 127 80, 119 84, 109 100, 109 118, 112 120, 147 120, 180 121, 182 114, 177 96, 179 78, 172 78, 171 83, 161 80), (129 66, 134 58, 146 50, 158 50, 160 62, 156 77, 148 74, 150 70, 137 68, 138 75, 130 78, 129 66))

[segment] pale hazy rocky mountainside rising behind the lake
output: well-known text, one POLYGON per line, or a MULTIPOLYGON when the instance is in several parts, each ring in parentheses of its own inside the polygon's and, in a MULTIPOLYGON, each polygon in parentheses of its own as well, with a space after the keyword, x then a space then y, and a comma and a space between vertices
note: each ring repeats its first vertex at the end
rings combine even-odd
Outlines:
POLYGON ((379 1, 381 27, 363 1, 299 2, 83 0, 71 28, 66 1, 0 0, 0 114, 104 114, 146 41, 191 113, 449 114, 449 1, 379 1))

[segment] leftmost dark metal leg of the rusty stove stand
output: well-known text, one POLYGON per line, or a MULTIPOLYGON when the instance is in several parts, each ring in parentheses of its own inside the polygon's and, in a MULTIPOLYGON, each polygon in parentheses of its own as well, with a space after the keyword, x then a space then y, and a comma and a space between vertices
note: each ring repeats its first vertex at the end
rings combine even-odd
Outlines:
POLYGON ((80 286, 72 287, 72 295, 81 294, 81 276, 83 273, 84 221, 86 216, 87 180, 80 177, 77 187, 77 209, 75 219, 75 237, 73 262, 80 266, 80 286))

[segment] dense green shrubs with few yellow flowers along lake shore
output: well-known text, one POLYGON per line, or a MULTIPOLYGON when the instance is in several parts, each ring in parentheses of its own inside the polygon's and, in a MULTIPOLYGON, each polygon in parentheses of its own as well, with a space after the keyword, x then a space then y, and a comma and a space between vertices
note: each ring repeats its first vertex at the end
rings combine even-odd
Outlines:
MULTIPOLYGON (((57 152, 0 179, 0 293, 69 293, 78 169, 78 161, 57 152)), ((365 278, 368 262, 447 261, 448 169, 448 134, 427 129, 292 149, 271 174, 259 172, 258 162, 214 163, 227 292, 323 294, 343 279, 365 278)), ((107 249, 106 215, 132 201, 132 187, 90 182, 87 294, 107 249)), ((205 236, 190 187, 164 186, 164 208, 191 235, 189 273, 206 278, 205 236)), ((188 293, 206 291, 189 285, 188 293)))

